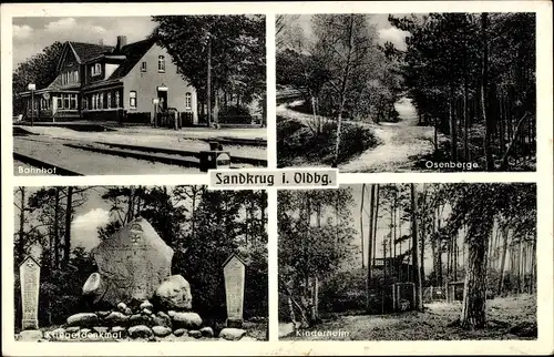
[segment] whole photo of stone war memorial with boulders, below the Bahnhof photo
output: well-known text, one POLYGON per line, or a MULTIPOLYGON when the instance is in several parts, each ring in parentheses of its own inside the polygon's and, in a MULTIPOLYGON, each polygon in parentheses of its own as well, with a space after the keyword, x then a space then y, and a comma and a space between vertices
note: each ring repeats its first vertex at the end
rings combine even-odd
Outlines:
POLYGON ((14 221, 18 340, 267 339, 265 191, 20 186, 14 221))

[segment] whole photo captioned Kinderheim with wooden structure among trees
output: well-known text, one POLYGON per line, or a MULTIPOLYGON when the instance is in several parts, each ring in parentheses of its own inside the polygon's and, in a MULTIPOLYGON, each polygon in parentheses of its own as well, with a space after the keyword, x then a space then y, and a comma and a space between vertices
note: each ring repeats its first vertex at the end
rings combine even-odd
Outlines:
POLYGON ((279 338, 536 339, 536 185, 278 193, 279 338))

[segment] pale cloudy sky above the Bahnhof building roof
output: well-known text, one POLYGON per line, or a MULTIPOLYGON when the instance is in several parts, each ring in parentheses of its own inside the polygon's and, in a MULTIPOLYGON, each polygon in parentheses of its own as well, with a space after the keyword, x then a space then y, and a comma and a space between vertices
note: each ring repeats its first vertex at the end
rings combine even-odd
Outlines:
POLYGON ((114 45, 117 35, 127 43, 143 40, 156 23, 150 17, 35 17, 14 18, 12 22, 13 67, 42 52, 55 41, 76 41, 114 45))

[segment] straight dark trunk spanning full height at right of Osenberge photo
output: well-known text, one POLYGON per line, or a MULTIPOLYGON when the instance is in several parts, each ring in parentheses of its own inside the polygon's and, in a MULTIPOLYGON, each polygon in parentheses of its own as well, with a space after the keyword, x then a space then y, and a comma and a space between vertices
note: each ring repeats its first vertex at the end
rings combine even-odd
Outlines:
POLYGON ((494 170, 494 162, 492 159, 491 149, 491 134, 492 134, 492 118, 488 114, 488 91, 489 91, 489 44, 488 44, 488 28, 489 13, 483 12, 481 14, 481 40, 483 42, 483 65, 481 69, 481 114, 483 115, 483 122, 485 124, 485 136, 484 136, 484 154, 486 162, 486 171, 494 170))

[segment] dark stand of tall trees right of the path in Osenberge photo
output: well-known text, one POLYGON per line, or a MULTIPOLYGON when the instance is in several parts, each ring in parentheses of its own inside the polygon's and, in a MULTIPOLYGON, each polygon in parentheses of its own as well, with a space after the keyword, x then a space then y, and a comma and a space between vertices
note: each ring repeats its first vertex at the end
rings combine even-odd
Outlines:
POLYGON ((463 157, 486 171, 533 165, 526 160, 536 145, 534 14, 430 13, 389 21, 410 32, 401 72, 423 122, 435 128, 435 154, 449 150, 452 161, 463 157), (450 139, 443 147, 439 132, 450 139))

